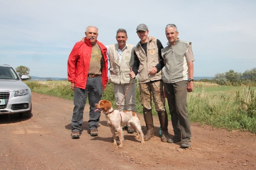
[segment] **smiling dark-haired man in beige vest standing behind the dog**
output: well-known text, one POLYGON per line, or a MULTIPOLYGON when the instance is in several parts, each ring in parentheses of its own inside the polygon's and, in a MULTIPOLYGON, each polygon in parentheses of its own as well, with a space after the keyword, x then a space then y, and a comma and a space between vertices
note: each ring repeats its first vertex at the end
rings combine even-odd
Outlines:
MULTIPOLYGON (((107 46, 107 56, 110 65, 109 79, 110 82, 113 83, 117 107, 121 104, 119 110, 131 110, 136 112, 136 83, 129 75, 131 72, 130 68, 133 67, 134 64, 134 45, 126 43, 127 39, 126 30, 118 29, 116 35, 117 43, 107 46), (131 83, 132 80, 133 82, 131 83), (122 101, 129 86, 130 88, 122 101)), ((124 129, 127 130, 127 133, 134 132, 134 129, 130 125, 126 125, 124 129)))

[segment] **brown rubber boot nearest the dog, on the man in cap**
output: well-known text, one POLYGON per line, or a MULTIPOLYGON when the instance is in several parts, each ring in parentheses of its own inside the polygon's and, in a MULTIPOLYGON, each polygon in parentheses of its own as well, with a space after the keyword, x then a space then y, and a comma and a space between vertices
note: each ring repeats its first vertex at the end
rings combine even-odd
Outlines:
POLYGON ((144 135, 144 140, 148 141, 151 137, 154 136, 154 124, 153 124, 153 116, 152 110, 143 112, 144 120, 147 127, 147 133, 144 135))

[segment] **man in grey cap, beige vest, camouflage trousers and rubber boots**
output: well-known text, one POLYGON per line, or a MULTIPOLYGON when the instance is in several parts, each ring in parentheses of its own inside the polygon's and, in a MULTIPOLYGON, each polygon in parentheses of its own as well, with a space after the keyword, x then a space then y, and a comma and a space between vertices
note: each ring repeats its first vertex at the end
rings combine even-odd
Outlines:
POLYGON ((163 134, 161 141, 167 142, 169 138, 168 117, 165 110, 162 81, 164 59, 161 54, 161 49, 164 47, 158 39, 148 37, 149 30, 145 24, 139 24, 136 30, 140 41, 134 48, 134 65, 130 77, 133 79, 138 74, 141 105, 143 106, 143 115, 147 127, 144 140, 148 141, 154 136, 151 103, 153 99, 163 134))

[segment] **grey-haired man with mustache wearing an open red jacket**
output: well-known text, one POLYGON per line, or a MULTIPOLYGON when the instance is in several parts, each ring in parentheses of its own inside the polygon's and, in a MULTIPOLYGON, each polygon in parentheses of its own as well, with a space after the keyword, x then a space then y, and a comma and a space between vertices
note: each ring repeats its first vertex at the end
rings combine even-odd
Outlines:
POLYGON ((98 136, 100 112, 94 112, 94 104, 99 103, 108 82, 107 48, 97 41, 98 28, 88 26, 84 42, 77 42, 68 57, 68 81, 74 90, 74 109, 71 120, 71 138, 80 138, 83 124, 83 111, 89 97, 89 131, 91 136, 98 136))

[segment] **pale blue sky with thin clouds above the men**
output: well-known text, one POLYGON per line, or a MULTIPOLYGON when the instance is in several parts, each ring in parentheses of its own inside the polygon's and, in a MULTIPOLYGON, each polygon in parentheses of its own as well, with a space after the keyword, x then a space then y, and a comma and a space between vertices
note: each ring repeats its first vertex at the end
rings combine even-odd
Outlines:
POLYGON ((66 78, 68 56, 89 25, 104 45, 116 43, 118 28, 136 45, 144 23, 165 47, 165 26, 176 24, 178 37, 192 42, 195 77, 244 72, 256 67, 255 9, 255 0, 0 0, 0 64, 66 78))

